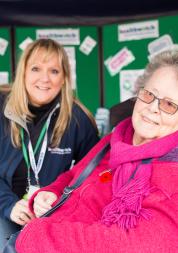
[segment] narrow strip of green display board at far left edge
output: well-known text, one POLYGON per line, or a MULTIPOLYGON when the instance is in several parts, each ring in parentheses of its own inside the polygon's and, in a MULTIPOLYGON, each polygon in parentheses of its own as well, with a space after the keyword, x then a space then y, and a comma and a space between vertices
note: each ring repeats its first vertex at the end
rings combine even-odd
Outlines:
POLYGON ((11 81, 11 39, 10 29, 0 27, 0 84, 11 81))

